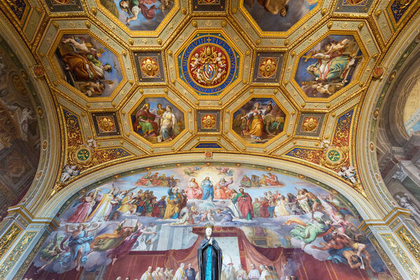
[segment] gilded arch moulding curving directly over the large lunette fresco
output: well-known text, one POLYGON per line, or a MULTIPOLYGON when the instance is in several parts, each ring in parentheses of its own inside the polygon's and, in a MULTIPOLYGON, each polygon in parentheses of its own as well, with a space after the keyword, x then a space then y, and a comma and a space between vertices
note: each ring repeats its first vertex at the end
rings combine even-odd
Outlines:
MULTIPOLYGON (((331 188, 332 190, 335 190, 338 193, 342 194, 346 198, 346 200, 348 200, 349 204, 353 204, 353 206, 356 208, 356 211, 358 211, 358 214, 360 214, 361 219, 366 221, 378 221, 380 219, 379 214, 374 211, 374 207, 372 207, 372 204, 370 204, 370 202, 368 202, 362 195, 357 193, 350 186, 346 185, 346 183, 339 181, 335 177, 325 176, 322 172, 318 170, 314 170, 309 167, 304 167, 302 165, 297 165, 290 162, 273 161, 271 159, 266 159, 258 156, 249 156, 244 158, 242 155, 223 155, 215 153, 212 159, 204 159, 203 153, 194 153, 153 157, 148 158, 146 160, 135 160, 132 162, 125 162, 120 165, 114 165, 113 167, 106 167, 100 172, 88 174, 87 176, 84 176, 79 180, 70 183, 68 186, 66 186, 64 190, 62 190, 60 193, 52 197, 51 200, 46 202, 44 204, 45 206, 37 212, 35 221, 37 220, 38 223, 41 223, 41 221, 51 221, 52 219, 54 219, 54 221, 58 223, 61 217, 55 218, 56 215, 60 214, 60 216, 62 216, 62 213, 69 206, 71 206, 71 204, 73 204, 73 201, 80 197, 80 195, 82 195, 83 193, 86 194, 90 192, 92 188, 97 188, 106 183, 109 183, 110 181, 119 179, 120 176, 125 177, 138 173, 155 172, 159 171, 160 169, 190 167, 192 165, 204 167, 244 167, 247 169, 262 169, 264 172, 273 172, 274 174, 283 174, 282 171, 285 171, 287 172, 286 175, 288 176, 295 176, 298 179, 308 181, 309 183, 312 183, 316 186, 321 186, 321 188, 327 190, 331 188)), ((235 186, 232 188, 237 187, 235 186)), ((63 227, 63 225, 60 224, 59 227, 63 227)), ((367 235, 370 236, 371 242, 372 244, 374 244, 374 247, 379 252, 383 252, 381 248, 382 245, 374 243, 374 240, 376 240, 375 237, 372 237, 372 235, 370 235, 369 230, 366 231, 365 226, 363 226, 363 228, 365 232, 367 232, 367 235)), ((41 244, 44 244, 45 236, 52 236, 50 235, 50 232, 53 230, 55 230, 55 227, 45 229, 44 234, 42 234, 40 231, 39 235, 43 235, 44 238, 41 237, 41 239, 38 239, 38 241, 33 241, 34 243, 38 243, 37 245, 35 245, 35 248, 31 250, 31 252, 36 253, 36 250, 39 249, 39 247, 36 246, 38 246, 38 244, 40 244, 39 246, 41 246, 41 244)), ((29 258, 29 260, 31 260, 31 258, 29 258)), ((388 266, 393 267, 389 263, 388 266)), ((34 267, 31 267, 31 269, 33 270, 34 267)), ((19 272, 18 276, 22 276, 22 274, 19 272)))

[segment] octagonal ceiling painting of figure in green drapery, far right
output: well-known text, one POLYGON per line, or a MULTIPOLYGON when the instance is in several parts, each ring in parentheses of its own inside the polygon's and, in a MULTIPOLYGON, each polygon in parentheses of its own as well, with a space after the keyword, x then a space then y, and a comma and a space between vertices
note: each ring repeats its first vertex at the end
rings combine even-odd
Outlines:
POLYGON ((307 97, 330 97, 357 76, 362 60, 354 36, 330 34, 300 55, 295 82, 307 97))

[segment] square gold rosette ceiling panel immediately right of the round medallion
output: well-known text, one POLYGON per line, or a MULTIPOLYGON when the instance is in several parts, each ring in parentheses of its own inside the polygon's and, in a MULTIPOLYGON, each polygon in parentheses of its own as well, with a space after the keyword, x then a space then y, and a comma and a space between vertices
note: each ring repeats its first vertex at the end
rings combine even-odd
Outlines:
POLYGON ((283 59, 283 52, 257 52, 253 83, 279 83, 283 59))

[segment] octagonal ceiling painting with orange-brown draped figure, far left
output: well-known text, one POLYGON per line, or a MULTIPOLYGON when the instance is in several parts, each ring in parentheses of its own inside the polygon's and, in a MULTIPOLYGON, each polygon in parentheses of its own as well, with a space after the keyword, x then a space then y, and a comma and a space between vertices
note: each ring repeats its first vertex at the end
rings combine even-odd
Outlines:
POLYGON ((87 97, 109 97, 123 80, 118 56, 90 34, 64 34, 53 64, 66 83, 87 97))

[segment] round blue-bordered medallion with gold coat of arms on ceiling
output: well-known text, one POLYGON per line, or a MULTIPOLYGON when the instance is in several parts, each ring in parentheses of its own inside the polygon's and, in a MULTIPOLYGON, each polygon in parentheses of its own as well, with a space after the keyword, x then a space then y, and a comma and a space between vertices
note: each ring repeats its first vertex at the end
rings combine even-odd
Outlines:
POLYGON ((198 36, 179 59, 181 78, 199 94, 218 94, 236 78, 239 57, 219 36, 198 36))

